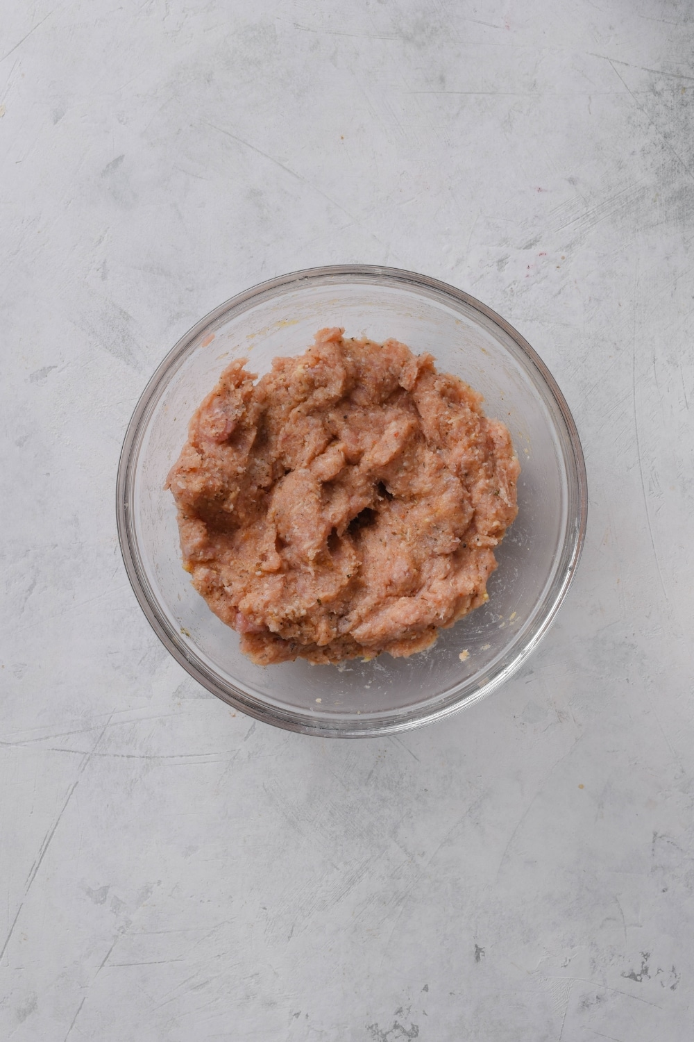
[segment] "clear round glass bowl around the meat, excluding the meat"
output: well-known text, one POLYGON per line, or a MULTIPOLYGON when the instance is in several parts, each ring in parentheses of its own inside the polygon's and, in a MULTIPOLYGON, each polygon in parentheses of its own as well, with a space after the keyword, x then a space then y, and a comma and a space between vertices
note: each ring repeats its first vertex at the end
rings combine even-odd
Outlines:
POLYGON ((166 355, 132 416, 118 473, 118 528, 135 596, 155 632, 200 684, 267 723, 309 735, 393 734, 471 705, 547 630, 576 568, 587 513, 575 424, 535 351, 508 322, 444 282, 393 268, 338 265, 262 282, 202 319, 166 355), (518 517, 496 549, 489 601, 409 659, 339 667, 256 666, 181 567, 163 485, 194 411, 234 357, 264 373, 324 326, 430 351, 485 398, 520 460, 518 517), (467 652, 467 653, 465 653, 467 652))

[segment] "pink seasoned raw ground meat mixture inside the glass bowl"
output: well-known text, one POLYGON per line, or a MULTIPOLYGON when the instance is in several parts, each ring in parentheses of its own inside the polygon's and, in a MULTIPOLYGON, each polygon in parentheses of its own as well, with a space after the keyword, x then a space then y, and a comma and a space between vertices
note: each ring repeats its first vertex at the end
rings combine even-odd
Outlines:
POLYGON ((518 461, 466 383, 322 329, 257 382, 233 362, 168 478, 186 571, 261 665, 409 655, 488 599, 518 461))

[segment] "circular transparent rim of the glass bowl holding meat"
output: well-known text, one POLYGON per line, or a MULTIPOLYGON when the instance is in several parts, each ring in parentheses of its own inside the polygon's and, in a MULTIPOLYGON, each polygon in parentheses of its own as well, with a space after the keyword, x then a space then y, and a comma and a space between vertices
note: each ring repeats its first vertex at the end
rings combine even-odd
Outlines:
MULTIPOLYGON (((551 415, 556 424, 557 416, 554 411, 551 411, 551 415)), ((274 724, 286 730, 331 738, 369 738, 410 730, 468 708, 496 690, 504 680, 516 672, 524 660, 535 650, 551 625, 573 580, 581 560, 588 521, 588 478, 579 431, 564 395, 544 362, 506 319, 463 290, 429 275, 420 275, 405 269, 382 265, 325 265, 279 275, 243 290, 200 319, 164 355, 140 394, 126 429, 115 481, 115 514, 123 563, 139 606, 166 650, 194 679, 234 709, 256 720, 274 724), (451 689, 444 704, 434 703, 430 712, 427 712, 426 705, 422 709, 422 704, 418 703, 412 709, 410 716, 399 715, 399 711, 395 710, 391 711, 388 716, 378 719, 365 716, 363 722, 350 720, 348 724, 339 722, 338 719, 331 720, 327 717, 312 715, 309 712, 265 703, 261 697, 257 701, 252 700, 238 688, 222 680, 204 662, 198 659, 159 610, 157 598, 151 589, 142 563, 134 520, 130 510, 139 448, 147 430, 147 423, 160 397, 157 392, 163 391, 172 370, 175 371, 178 364, 182 363, 200 334, 223 317, 230 318, 234 312, 247 311, 248 306, 257 298, 274 296, 278 291, 286 291, 302 282, 325 283, 332 278, 338 279, 344 276, 349 276, 350 280, 354 282, 368 283, 377 280, 380 284, 406 286, 413 290, 429 291, 427 295, 433 295, 437 298, 453 298, 456 302, 471 307, 498 325, 520 350, 525 365, 530 364, 531 372, 535 370, 537 376, 540 377, 540 383, 544 383, 559 413, 566 435, 566 438, 560 438, 560 441, 567 468, 567 517, 561 551, 558 555, 559 567, 543 597, 543 610, 538 612, 522 645, 517 648, 511 645, 508 649, 508 656, 502 655, 498 662, 492 664, 487 675, 482 680, 477 681, 479 686, 477 691, 465 692, 464 689, 469 684, 469 679, 463 680, 451 689), (568 457, 567 445, 570 450, 568 457)))

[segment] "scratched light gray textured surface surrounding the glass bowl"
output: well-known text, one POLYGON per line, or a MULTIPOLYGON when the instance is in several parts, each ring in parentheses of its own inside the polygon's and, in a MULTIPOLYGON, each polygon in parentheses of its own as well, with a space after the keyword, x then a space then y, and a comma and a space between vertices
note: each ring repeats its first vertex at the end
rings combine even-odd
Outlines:
POLYGON ((688 0, 5 0, 0 1037, 680 1042, 694 997, 688 0), (588 542, 525 669, 404 738, 169 658, 113 516, 151 371, 324 263, 507 317, 588 542))

